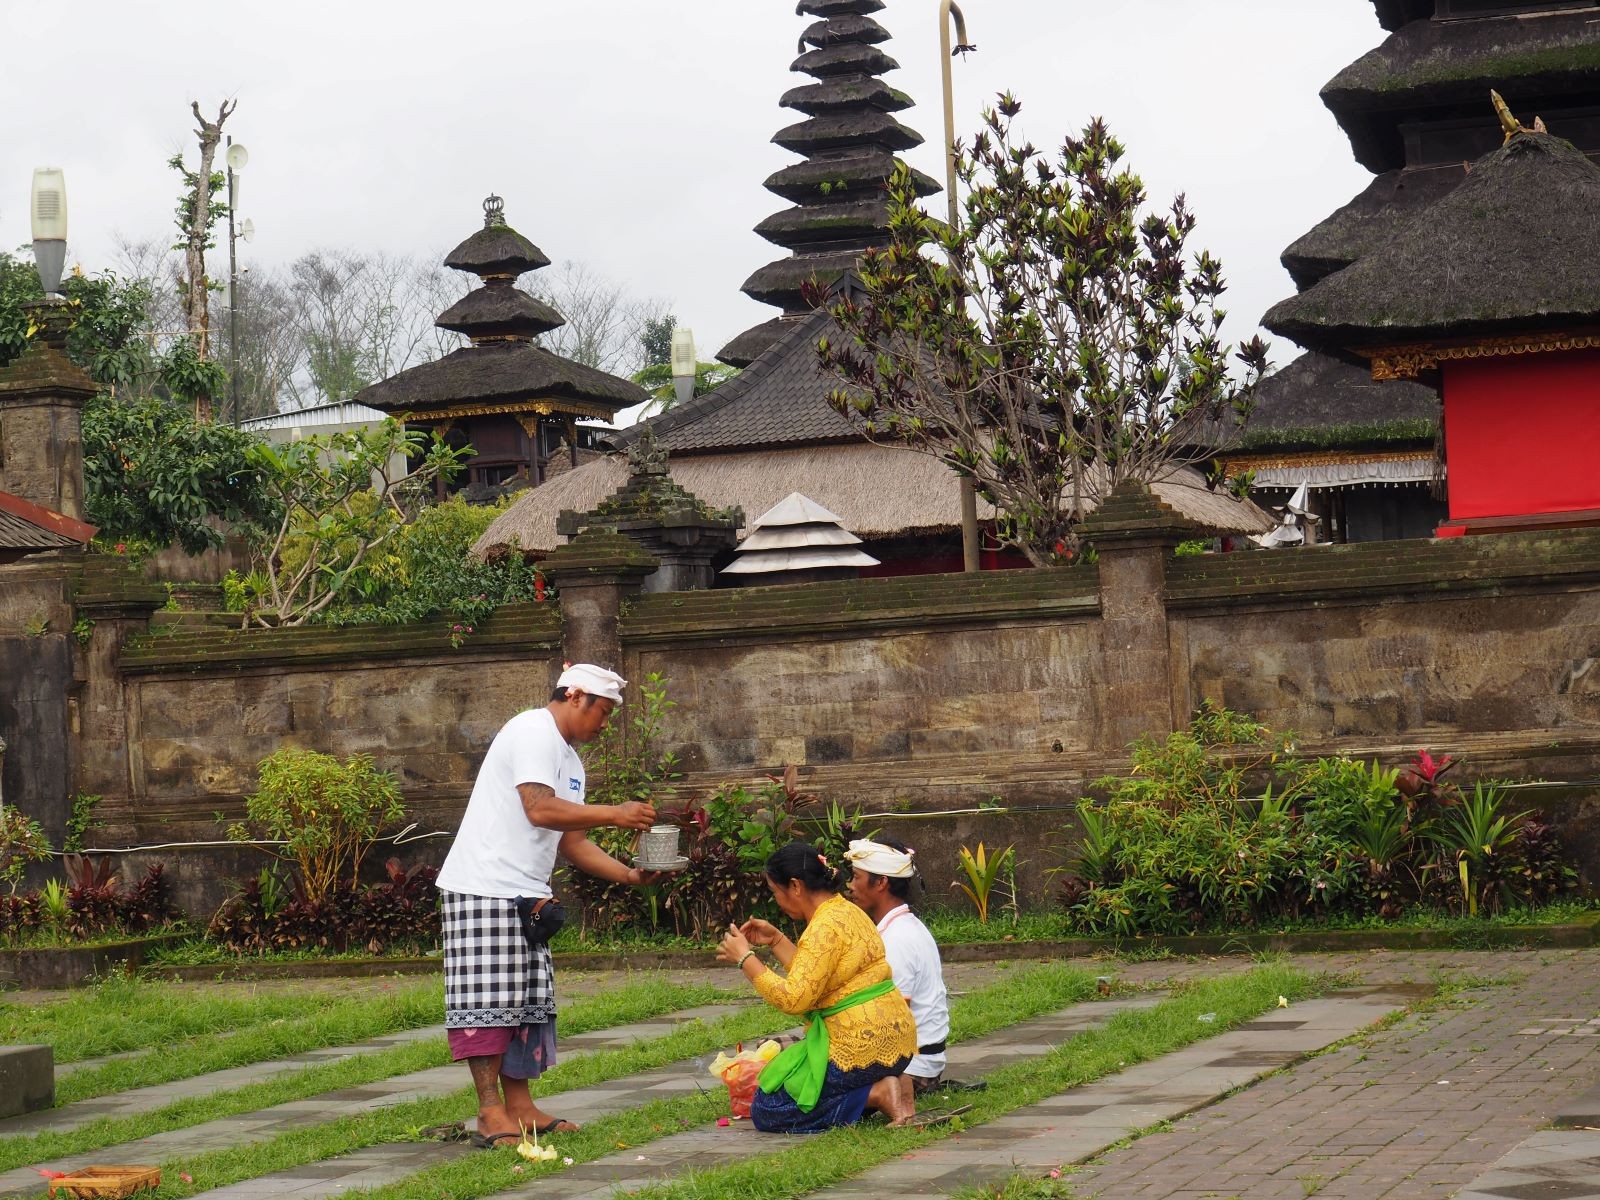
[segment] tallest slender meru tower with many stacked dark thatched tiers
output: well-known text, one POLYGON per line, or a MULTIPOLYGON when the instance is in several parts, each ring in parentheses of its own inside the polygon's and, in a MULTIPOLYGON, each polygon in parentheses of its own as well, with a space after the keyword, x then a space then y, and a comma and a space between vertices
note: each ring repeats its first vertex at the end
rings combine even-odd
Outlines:
MULTIPOLYGON (((746 330, 717 355, 725 363, 749 366, 776 342, 795 318, 810 312, 802 288, 808 280, 830 283, 856 264, 867 246, 888 238, 885 182, 896 155, 922 144, 922 138, 893 114, 912 107, 904 91, 880 77, 899 62, 880 46, 890 40, 872 13, 883 0, 802 0, 802 16, 818 21, 802 35, 810 46, 792 70, 810 75, 784 93, 779 104, 805 114, 805 120, 779 130, 773 142, 805 157, 766 181, 766 189, 792 208, 774 213, 755 227, 768 242, 790 251, 744 282, 744 294, 782 309, 781 317, 746 330)), ((939 184, 915 173, 918 195, 939 184)))

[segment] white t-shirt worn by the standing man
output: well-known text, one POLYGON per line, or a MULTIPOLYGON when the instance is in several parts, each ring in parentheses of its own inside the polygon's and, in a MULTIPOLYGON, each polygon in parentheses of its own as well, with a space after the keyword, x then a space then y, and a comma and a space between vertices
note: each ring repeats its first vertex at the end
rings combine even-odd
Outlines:
POLYGON ((499 899, 550 894, 562 834, 528 821, 517 784, 544 784, 563 800, 584 802, 584 763, 549 709, 518 712, 490 742, 438 872, 443 891, 499 899))

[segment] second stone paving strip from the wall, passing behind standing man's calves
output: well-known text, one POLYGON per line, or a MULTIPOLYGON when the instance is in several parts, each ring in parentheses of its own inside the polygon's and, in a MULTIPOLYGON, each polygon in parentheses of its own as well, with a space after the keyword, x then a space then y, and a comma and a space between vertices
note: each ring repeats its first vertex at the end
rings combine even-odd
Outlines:
MULTIPOLYGON (((704 1008, 683 1010, 680 1013, 672 1013, 651 1021, 640 1021, 630 1026, 614 1026, 611 1029, 578 1034, 562 1040, 562 1053, 563 1058, 570 1058, 574 1053, 629 1046, 645 1038, 661 1037, 678 1024, 696 1016, 715 1018, 738 1010, 739 1005, 709 1005, 704 1008)), ((205 1077, 186 1080, 186 1083, 197 1088, 194 1094, 210 1094, 203 1078, 205 1077)), ((698 1080, 694 1082, 698 1083, 698 1080)), ((38 1163, 38 1166, 54 1171, 69 1171, 90 1163, 104 1163, 110 1158, 118 1158, 122 1162, 166 1162, 170 1158, 202 1150, 267 1141, 286 1130, 320 1125, 322 1122, 333 1120, 336 1117, 347 1117, 354 1112, 370 1112, 373 1109, 430 1096, 448 1096, 453 1091, 459 1091, 467 1083, 469 1078, 466 1069, 459 1062, 453 1062, 443 1067, 430 1067, 408 1075, 395 1075, 394 1078, 382 1080, 381 1083, 360 1088, 358 1091, 366 1093, 363 1099, 334 1099, 333 1096, 336 1093, 312 1096, 309 1099, 290 1101, 270 1109, 262 1109, 261 1112, 242 1114, 238 1117, 227 1117, 222 1120, 206 1122, 203 1125, 192 1125, 182 1130, 160 1133, 152 1138, 125 1142, 122 1146, 83 1155, 72 1155, 51 1163, 38 1163)), ((637 1078, 630 1080, 624 1085, 624 1090, 618 1091, 618 1096, 629 1098, 637 1078)), ((693 1088, 688 1077, 685 1077, 685 1088, 693 1088)), ((85 1102, 93 1104, 94 1101, 85 1102)), ((0 1134, 10 1133, 22 1120, 27 1118, 14 1118, 0 1123, 0 1134)), ((27 1133, 29 1130, 22 1131, 27 1133)), ((37 1190, 38 1174, 32 1168, 0 1173, 0 1197, 32 1195, 37 1190)))

